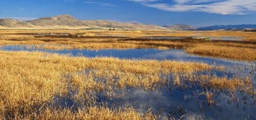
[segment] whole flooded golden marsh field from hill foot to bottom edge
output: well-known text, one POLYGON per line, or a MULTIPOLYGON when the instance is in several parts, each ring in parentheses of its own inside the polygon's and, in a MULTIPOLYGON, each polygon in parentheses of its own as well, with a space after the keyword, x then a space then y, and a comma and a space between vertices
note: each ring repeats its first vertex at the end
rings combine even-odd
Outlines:
POLYGON ((0 45, 3 119, 256 118, 255 33, 0 30, 0 45))

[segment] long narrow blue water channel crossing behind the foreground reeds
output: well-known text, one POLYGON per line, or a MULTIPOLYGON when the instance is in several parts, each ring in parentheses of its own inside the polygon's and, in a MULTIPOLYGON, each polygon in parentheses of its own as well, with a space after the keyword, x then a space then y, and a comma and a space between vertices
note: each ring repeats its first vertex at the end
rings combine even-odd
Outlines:
MULTIPOLYGON (((254 78, 253 85, 256 86, 256 71, 253 71, 252 67, 256 66, 256 62, 245 62, 245 61, 235 61, 228 59, 218 59, 212 57, 201 57, 199 55, 188 54, 185 50, 158 50, 158 49, 105 49, 105 50, 82 50, 82 49, 72 49, 72 50, 46 50, 37 49, 34 45, 6 45, 1 46, 0 50, 4 51, 41 51, 49 53, 58 54, 70 54, 73 56, 82 57, 115 57, 121 59, 155 59, 155 60, 175 60, 175 61, 195 61, 204 62, 209 65, 225 66, 229 72, 236 73, 240 76, 251 76, 254 78), (243 72, 241 72, 243 71, 243 72), (251 72, 253 71, 253 73, 251 72)), ((218 71, 212 72, 217 73, 218 71)))

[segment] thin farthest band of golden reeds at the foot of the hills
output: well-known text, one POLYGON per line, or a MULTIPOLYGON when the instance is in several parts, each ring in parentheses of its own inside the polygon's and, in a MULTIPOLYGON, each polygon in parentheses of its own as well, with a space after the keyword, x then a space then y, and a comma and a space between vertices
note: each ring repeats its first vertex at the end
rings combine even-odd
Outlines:
POLYGON ((245 31, 175 31, 175 30, 0 30, 0 34, 31 34, 31 33, 70 33, 70 34, 84 34, 85 36, 126 36, 126 37, 190 37, 190 36, 204 36, 204 37, 242 37, 244 41, 256 41, 255 32, 245 31))

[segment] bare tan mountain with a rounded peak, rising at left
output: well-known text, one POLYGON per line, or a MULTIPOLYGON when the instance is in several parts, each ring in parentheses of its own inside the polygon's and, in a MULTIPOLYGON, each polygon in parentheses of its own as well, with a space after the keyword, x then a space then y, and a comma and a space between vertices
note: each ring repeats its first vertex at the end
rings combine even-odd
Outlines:
POLYGON ((77 20, 71 15, 64 14, 55 17, 40 18, 31 21, 19 21, 13 19, 0 19, 1 29, 85 29, 85 28, 117 28, 117 29, 166 29, 156 25, 146 25, 141 23, 123 23, 106 20, 77 20))

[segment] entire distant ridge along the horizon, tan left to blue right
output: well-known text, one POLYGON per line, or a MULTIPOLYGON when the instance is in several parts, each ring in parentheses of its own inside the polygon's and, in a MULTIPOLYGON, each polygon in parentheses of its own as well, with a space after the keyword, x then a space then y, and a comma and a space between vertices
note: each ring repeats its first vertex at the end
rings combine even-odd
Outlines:
POLYGON ((256 31, 256 25, 215 25, 193 27, 189 25, 157 26, 143 23, 117 22, 107 20, 77 20, 69 14, 39 18, 31 21, 0 19, 0 29, 124 29, 124 30, 227 30, 256 31))

